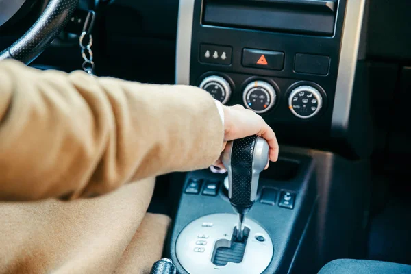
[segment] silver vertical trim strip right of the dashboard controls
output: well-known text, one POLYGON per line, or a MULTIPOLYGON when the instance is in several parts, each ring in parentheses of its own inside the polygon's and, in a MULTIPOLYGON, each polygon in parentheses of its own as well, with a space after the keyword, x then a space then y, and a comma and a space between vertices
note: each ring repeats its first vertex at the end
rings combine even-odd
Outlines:
POLYGON ((338 66, 332 129, 347 129, 366 0, 348 0, 338 66))

